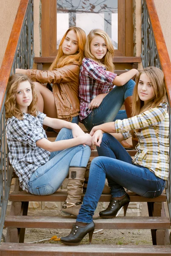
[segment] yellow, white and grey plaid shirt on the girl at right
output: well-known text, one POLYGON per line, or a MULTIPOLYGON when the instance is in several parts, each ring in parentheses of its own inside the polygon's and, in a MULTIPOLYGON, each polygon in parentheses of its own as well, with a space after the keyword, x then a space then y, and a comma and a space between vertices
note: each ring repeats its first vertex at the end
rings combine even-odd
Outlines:
POLYGON ((136 155, 133 163, 144 166, 154 174, 168 180, 169 170, 169 116, 167 103, 162 103, 157 108, 151 108, 137 116, 124 120, 116 120, 117 133, 122 133, 124 139, 131 136, 130 131, 135 131, 139 139, 136 145, 136 155))

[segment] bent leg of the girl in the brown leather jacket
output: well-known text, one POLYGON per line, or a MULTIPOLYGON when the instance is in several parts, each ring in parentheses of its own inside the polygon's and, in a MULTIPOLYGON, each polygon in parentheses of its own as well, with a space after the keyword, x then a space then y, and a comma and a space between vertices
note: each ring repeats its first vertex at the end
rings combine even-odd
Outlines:
POLYGON ((53 93, 43 84, 34 82, 35 89, 38 93, 38 110, 47 116, 57 118, 56 105, 53 93))

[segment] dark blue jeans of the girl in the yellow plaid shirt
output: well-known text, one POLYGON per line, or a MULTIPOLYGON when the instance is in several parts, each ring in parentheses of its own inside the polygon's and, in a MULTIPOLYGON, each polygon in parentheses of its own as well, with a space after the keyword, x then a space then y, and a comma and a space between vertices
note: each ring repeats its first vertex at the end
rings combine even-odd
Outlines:
POLYGON ((110 134, 104 134, 99 156, 90 166, 87 191, 77 216, 77 221, 90 223, 104 188, 105 178, 109 183, 112 197, 121 197, 129 189, 145 198, 162 194, 165 180, 157 177, 148 168, 134 165, 124 147, 110 134))

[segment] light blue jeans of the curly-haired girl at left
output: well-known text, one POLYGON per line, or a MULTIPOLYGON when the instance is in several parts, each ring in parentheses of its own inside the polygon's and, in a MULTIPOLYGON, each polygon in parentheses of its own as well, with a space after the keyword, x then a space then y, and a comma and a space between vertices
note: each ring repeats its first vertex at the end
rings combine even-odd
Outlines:
MULTIPOLYGON (((56 138, 58 140, 72 139, 72 130, 62 128, 56 138)), ((28 191, 34 195, 51 195, 67 177, 70 166, 87 166, 91 150, 89 146, 78 145, 50 154, 50 159, 38 167, 32 174, 28 191)))

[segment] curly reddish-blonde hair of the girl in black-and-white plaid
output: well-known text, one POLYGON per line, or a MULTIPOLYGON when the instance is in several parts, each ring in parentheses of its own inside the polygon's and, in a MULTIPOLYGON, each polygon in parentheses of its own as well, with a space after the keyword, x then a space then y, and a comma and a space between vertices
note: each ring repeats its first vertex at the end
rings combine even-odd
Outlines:
POLYGON ((9 81, 7 84, 6 89, 6 101, 5 101, 5 108, 6 108, 6 118, 10 118, 15 116, 18 119, 23 119, 23 112, 18 108, 15 100, 15 93, 19 84, 23 81, 29 81, 32 88, 32 102, 28 107, 28 113, 32 116, 37 116, 37 103, 38 103, 38 96, 35 90, 34 83, 29 79, 28 76, 23 74, 14 74, 9 77, 9 81))

